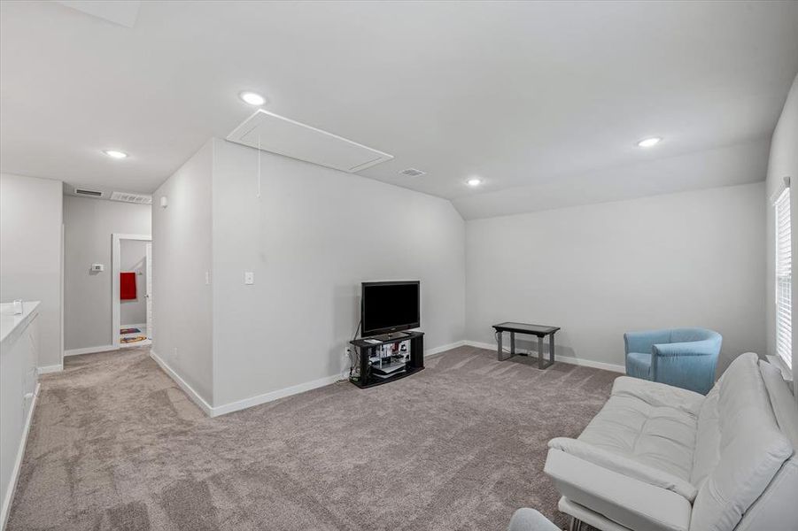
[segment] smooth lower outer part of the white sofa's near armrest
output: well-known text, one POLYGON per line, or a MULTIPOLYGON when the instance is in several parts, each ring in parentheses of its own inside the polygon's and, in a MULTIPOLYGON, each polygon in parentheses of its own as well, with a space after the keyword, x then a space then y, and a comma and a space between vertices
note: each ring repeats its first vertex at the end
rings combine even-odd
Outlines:
POLYGON ((563 496, 630 529, 688 531, 693 505, 660 489, 577 458, 548 450, 544 468, 563 496))

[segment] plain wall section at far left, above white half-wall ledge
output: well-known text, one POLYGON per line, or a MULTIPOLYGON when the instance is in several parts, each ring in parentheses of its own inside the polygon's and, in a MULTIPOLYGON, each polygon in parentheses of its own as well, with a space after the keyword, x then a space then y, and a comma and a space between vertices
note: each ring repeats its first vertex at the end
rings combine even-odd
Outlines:
POLYGON ((41 301, 38 366, 61 365, 61 181, 0 174, 0 301, 41 301))

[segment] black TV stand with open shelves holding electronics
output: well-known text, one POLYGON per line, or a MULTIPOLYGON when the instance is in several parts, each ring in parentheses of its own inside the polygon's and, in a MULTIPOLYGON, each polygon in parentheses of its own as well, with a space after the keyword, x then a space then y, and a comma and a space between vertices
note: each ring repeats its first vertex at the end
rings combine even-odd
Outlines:
POLYGON ((423 332, 399 332, 389 334, 390 338, 385 339, 385 336, 375 336, 355 339, 351 341, 355 352, 358 354, 359 366, 357 374, 349 378, 353 384, 360 389, 366 389, 388 383, 389 381, 400 380, 409 376, 410 374, 418 373, 424 368, 424 333, 423 332), (405 363, 404 370, 393 373, 389 376, 379 377, 372 371, 371 358, 376 352, 384 345, 410 342, 409 359, 405 363))

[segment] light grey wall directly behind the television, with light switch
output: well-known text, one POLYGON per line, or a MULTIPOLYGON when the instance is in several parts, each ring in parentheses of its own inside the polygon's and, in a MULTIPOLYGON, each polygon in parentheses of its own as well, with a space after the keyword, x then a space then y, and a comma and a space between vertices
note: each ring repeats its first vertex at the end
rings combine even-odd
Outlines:
POLYGON ((420 280, 425 348, 464 339, 465 222, 449 201, 214 144, 214 404, 345 377, 361 281, 420 280))

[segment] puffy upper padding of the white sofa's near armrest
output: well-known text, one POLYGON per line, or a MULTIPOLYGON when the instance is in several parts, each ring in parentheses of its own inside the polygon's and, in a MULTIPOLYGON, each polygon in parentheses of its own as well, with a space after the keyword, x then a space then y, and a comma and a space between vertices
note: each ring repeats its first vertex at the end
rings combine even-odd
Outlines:
POLYGON ((670 490, 679 496, 684 496, 690 503, 693 503, 695 496, 698 494, 698 489, 689 481, 678 478, 672 473, 658 470, 653 466, 647 466, 630 458, 624 458, 624 456, 603 450, 598 446, 593 446, 593 444, 567 437, 557 437, 548 442, 548 447, 562 450, 575 458, 584 459, 593 463, 593 465, 603 466, 616 473, 622 473, 624 476, 643 481, 648 485, 670 490))

